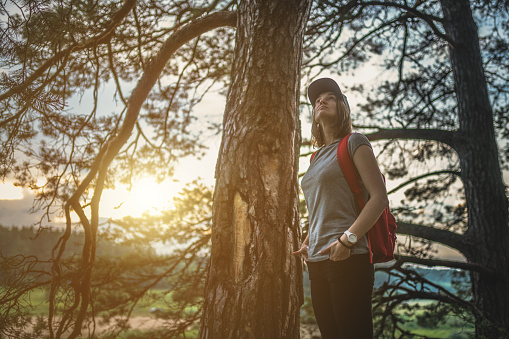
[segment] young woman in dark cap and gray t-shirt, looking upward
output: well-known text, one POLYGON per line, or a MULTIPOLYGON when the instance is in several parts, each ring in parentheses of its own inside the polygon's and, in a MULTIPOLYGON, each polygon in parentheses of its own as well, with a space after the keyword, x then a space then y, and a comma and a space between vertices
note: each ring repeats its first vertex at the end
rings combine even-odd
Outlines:
POLYGON ((348 150, 367 201, 360 211, 337 159, 341 138, 352 131, 346 97, 329 78, 312 82, 308 97, 313 105, 312 139, 320 149, 302 178, 309 232, 293 254, 307 261, 322 337, 373 338, 374 269, 365 234, 388 205, 385 184, 368 139, 353 133, 348 150))

